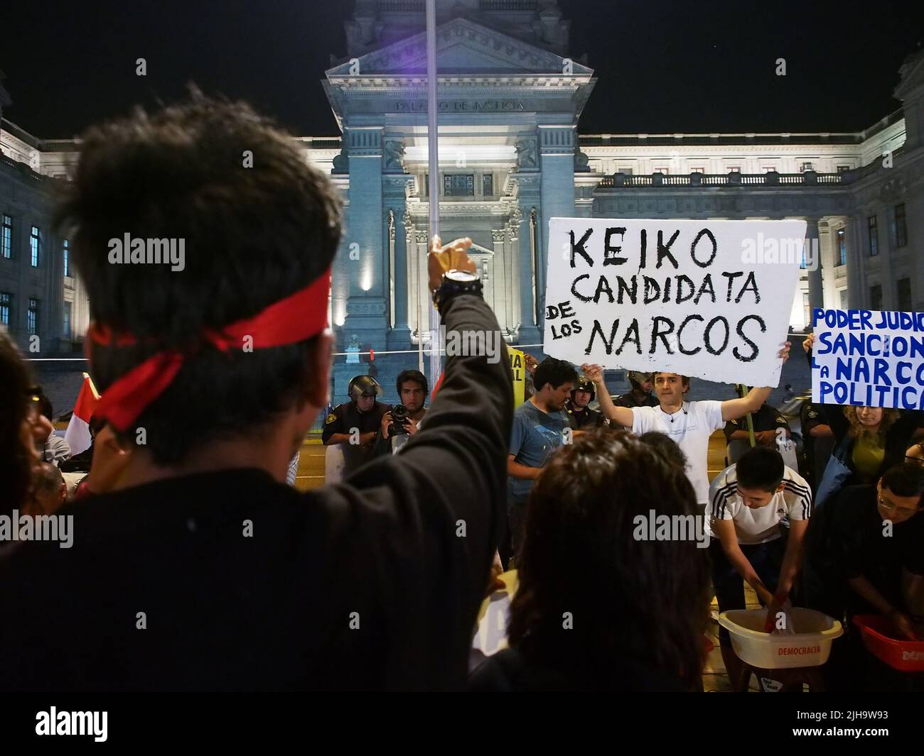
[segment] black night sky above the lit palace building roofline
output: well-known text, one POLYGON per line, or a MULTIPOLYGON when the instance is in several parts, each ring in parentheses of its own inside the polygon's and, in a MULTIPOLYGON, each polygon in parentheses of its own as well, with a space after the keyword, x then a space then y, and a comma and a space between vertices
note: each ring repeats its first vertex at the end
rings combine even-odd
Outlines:
MULTIPOLYGON (((898 67, 924 39, 921 4, 898 0, 559 5, 573 56, 587 53, 599 78, 585 134, 859 130, 899 107, 898 67)), ((330 55, 346 54, 352 10, 350 0, 11 0, 0 15, 4 115, 40 138, 70 138, 194 81, 299 136, 336 135, 319 81, 330 55)))

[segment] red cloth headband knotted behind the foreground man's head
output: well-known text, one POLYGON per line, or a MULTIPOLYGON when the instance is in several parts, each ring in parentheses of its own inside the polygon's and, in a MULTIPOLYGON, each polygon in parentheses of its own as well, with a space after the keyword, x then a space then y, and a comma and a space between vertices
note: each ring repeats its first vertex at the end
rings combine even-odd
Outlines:
MULTIPOLYGON (((203 330, 202 339, 222 352, 243 346, 245 336, 253 339, 254 349, 303 342, 328 327, 330 292, 331 270, 328 269, 309 286, 267 306, 252 318, 237 320, 220 331, 203 330)), ((97 326, 96 323, 90 324, 87 336, 104 346, 138 343, 130 333, 114 334, 105 325, 97 326)), ((176 349, 152 354, 103 391, 94 416, 104 417, 116 430, 128 430, 173 382, 187 356, 176 349)))

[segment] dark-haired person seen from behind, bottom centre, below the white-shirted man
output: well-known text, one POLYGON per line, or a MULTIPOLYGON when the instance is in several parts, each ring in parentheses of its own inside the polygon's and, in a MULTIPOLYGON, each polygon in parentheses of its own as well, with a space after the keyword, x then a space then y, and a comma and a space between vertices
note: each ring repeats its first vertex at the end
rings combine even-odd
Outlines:
POLYGON ((558 450, 529 497, 510 648, 471 689, 697 689, 710 594, 696 513, 683 467, 626 431, 558 450), (687 537, 648 540, 652 517, 687 537))

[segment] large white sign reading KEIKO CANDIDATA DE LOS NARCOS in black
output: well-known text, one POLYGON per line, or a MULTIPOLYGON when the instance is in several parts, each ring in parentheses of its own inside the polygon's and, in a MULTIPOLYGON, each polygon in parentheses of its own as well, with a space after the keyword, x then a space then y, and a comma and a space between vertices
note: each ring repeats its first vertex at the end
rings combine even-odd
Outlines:
POLYGON ((553 218, 543 350, 777 386, 805 221, 553 218))

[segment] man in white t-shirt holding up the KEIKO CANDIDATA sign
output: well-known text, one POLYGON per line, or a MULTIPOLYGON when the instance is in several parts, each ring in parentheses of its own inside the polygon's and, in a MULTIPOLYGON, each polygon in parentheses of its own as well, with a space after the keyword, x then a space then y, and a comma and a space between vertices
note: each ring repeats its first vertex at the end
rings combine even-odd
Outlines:
MULTIPOLYGON (((785 342, 779 357, 783 362, 789 358, 789 342, 785 342)), ((653 430, 675 441, 687 457, 687 477, 701 510, 709 503, 709 437, 729 420, 756 412, 771 391, 751 389, 747 396, 725 402, 687 402, 684 399, 690 388, 687 376, 655 373, 657 407, 617 407, 603 384, 602 367, 583 365, 581 371, 600 389, 600 409, 611 423, 630 428, 637 436, 653 430)))

